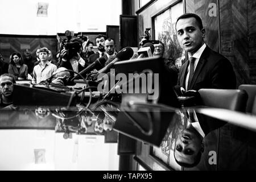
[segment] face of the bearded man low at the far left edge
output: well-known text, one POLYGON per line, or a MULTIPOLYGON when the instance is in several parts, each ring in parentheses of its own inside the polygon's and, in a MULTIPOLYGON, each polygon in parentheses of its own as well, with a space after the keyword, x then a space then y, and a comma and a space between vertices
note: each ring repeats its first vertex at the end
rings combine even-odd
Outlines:
POLYGON ((9 76, 0 78, 1 93, 5 97, 10 97, 13 94, 13 79, 9 76))

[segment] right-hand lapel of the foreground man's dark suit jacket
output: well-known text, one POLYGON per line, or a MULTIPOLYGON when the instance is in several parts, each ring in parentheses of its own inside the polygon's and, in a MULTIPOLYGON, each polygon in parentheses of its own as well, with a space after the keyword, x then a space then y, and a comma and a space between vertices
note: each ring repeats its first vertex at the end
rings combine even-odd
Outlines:
POLYGON ((193 88, 193 86, 195 85, 197 77, 199 76, 199 74, 202 71, 205 63, 207 62, 206 57, 209 55, 209 52, 210 52, 210 48, 206 47, 204 49, 204 52, 202 53, 198 63, 197 63, 196 70, 193 74, 193 77, 192 77, 192 80, 191 80, 191 85, 190 85, 190 88, 188 88, 188 90, 191 90, 193 88))

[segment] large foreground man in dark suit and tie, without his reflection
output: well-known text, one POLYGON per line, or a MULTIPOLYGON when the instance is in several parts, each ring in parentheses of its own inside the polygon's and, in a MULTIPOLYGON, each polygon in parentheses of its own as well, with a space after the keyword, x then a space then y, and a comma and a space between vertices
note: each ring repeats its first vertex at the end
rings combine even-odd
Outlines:
POLYGON ((204 43, 205 29, 196 14, 181 15, 176 22, 177 39, 189 60, 180 68, 177 85, 185 90, 235 89, 232 64, 204 43))

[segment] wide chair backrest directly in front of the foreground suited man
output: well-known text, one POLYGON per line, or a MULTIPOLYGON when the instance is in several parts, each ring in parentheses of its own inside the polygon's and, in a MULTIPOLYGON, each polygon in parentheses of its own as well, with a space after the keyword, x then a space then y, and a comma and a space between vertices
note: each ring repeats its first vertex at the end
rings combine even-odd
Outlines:
POLYGON ((245 111, 248 98, 245 90, 200 89, 199 93, 205 106, 245 111))

